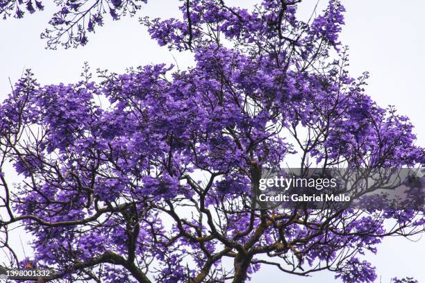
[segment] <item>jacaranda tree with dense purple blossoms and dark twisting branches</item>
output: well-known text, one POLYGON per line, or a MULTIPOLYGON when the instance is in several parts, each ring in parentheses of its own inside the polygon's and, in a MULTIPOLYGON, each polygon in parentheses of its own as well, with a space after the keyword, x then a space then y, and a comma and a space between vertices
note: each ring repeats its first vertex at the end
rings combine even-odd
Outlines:
MULTIPOLYGON (((33 236, 31 260, 55 268, 58 282, 237 283, 267 265, 282 278, 328 270, 373 282, 363 255, 383 237, 422 232, 423 210, 251 206, 262 170, 294 156, 303 168, 425 164, 408 118, 365 94, 367 73, 349 75, 341 3, 301 22, 298 2, 247 10, 187 0, 181 19, 140 19, 160 46, 192 52, 189 69, 147 65, 94 80, 86 67, 76 84, 45 86, 27 71, 0 105, 9 266, 22 264, 8 245, 19 224, 33 236), (8 166, 22 181, 8 182, 8 166)), ((22 17, 21 4, 0 1, 0 12, 22 17)), ((58 6, 51 46, 85 44, 104 12, 139 8, 58 6)))

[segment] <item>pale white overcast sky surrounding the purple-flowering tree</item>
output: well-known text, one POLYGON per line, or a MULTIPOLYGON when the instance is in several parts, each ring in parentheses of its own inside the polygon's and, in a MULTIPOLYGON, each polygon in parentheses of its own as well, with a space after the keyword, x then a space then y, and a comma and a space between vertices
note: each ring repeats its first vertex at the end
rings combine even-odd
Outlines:
MULTIPOLYGON (((304 1, 300 15, 308 17, 316 1, 304 1)), ((228 2, 250 6, 258 1, 228 2)), ((416 126, 418 144, 424 146, 425 1, 345 0, 343 3, 347 12, 341 40, 350 46, 352 76, 370 71, 367 94, 378 105, 396 105, 401 114, 410 117, 416 126)), ((326 1, 322 0, 319 6, 324 4, 326 1)), ((150 1, 137 16, 178 17, 177 5, 176 0, 150 1)), ((15 82, 27 68, 33 70, 40 83, 50 84, 76 82, 85 61, 93 69, 115 72, 147 63, 172 63, 174 58, 181 69, 192 62, 188 53, 170 53, 166 48, 159 48, 138 23, 138 17, 107 21, 104 28, 90 35, 88 46, 83 48, 46 50, 40 32, 54 8, 47 1, 45 6, 43 12, 24 19, 0 22, 0 100, 10 93, 9 78, 15 82)), ((424 240, 385 239, 378 246, 378 255, 367 256, 367 259, 378 268, 383 283, 396 275, 410 275, 425 282, 424 243, 424 240)), ((333 282, 333 274, 324 272, 300 279, 289 275, 281 277, 273 268, 264 268, 253 277, 253 282, 333 282)))

